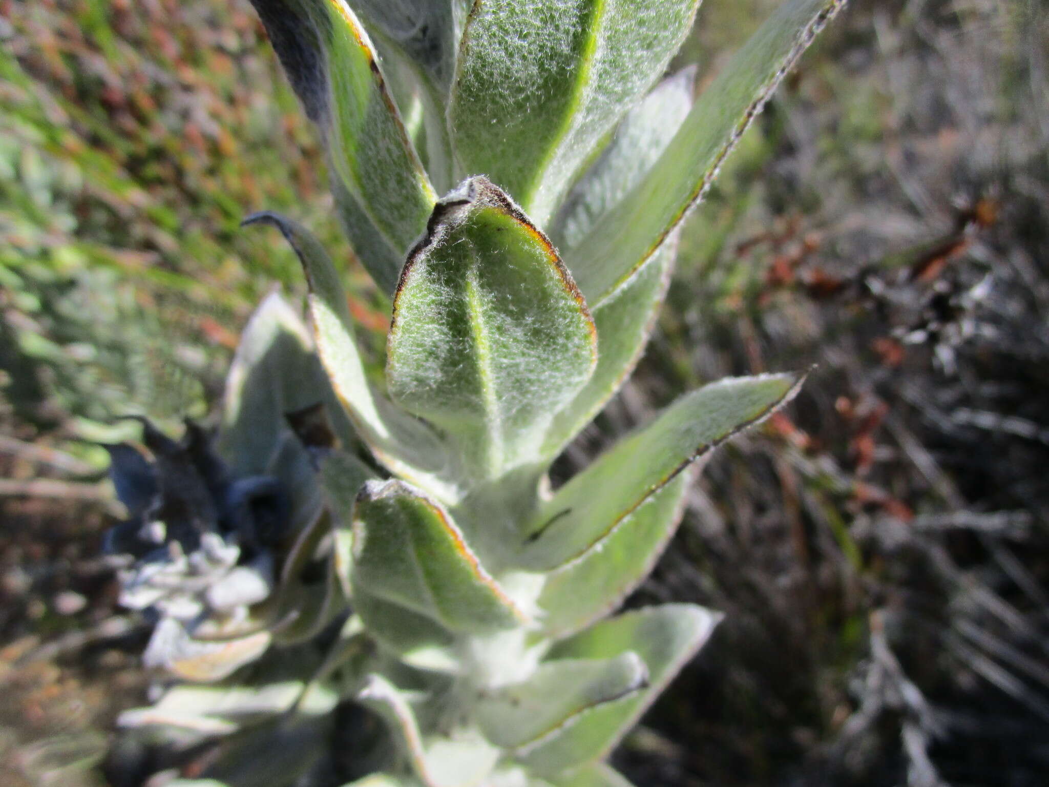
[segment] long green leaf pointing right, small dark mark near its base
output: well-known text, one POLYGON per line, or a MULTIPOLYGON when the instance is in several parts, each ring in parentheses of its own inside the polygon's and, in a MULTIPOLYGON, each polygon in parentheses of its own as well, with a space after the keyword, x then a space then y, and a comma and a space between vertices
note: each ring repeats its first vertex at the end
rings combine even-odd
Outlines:
POLYGON ((697 458, 789 399, 798 375, 722 380, 685 395, 569 481, 526 528, 518 565, 551 571, 600 548, 697 458))

